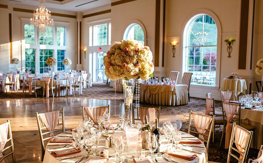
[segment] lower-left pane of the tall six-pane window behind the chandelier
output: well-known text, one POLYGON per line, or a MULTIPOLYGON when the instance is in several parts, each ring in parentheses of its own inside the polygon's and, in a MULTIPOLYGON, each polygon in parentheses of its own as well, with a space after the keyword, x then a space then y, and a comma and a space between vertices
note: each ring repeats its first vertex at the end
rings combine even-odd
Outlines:
POLYGON ((26 70, 35 73, 35 49, 25 49, 26 70))

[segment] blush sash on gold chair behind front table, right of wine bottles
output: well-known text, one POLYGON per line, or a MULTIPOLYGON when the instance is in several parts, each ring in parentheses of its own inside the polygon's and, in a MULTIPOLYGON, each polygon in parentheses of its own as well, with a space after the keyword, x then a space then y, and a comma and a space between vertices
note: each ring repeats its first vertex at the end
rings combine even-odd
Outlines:
MULTIPOLYGON (((209 115, 193 113, 193 119, 194 119, 194 125, 195 125, 196 130, 199 133, 204 134, 205 129, 208 129, 209 127, 212 117, 209 115)), ((201 135, 201 134, 199 135, 199 138, 204 139, 204 135, 201 135)))

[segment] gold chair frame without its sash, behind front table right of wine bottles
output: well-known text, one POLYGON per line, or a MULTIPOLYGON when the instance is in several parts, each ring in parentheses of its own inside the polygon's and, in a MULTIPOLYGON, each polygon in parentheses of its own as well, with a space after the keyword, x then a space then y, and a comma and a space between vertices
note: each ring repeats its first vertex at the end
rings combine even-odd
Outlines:
MULTIPOLYGON (((195 114, 197 114, 197 113, 195 113, 195 114)), ((209 123, 208 127, 205 129, 206 132, 204 134, 203 133, 199 133, 198 131, 194 131, 194 129, 196 129, 196 126, 194 124, 192 124, 192 115, 193 115, 193 112, 192 112, 192 110, 190 110, 189 111, 188 134, 194 133, 194 134, 203 135, 204 139, 200 138, 200 137, 198 139, 201 140, 201 141, 206 142, 206 150, 208 151, 209 142, 210 142, 210 139, 211 139, 211 134, 213 132, 214 123, 215 123, 215 115, 209 116, 211 118, 210 119, 210 123, 209 123), (208 134, 207 134, 207 132, 208 132, 208 134), (206 137, 207 137, 207 140, 205 140, 206 137)), ((208 115, 204 115, 204 114, 197 114, 197 115, 206 116, 206 117, 208 116, 208 115)))

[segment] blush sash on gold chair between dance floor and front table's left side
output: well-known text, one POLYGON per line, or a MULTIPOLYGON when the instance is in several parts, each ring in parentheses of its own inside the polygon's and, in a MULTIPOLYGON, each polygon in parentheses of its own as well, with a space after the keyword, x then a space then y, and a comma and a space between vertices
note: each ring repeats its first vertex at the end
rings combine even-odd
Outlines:
MULTIPOLYGON (((41 121, 44 126, 47 127, 48 131, 53 131, 58 125, 59 110, 48 113, 39 114, 41 121)), ((49 133, 49 136, 54 136, 53 133, 49 133)))

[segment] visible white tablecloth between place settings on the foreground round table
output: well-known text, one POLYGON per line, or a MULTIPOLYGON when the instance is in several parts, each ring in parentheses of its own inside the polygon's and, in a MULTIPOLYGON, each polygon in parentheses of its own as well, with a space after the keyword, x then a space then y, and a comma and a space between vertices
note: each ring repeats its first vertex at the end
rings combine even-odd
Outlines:
MULTIPOLYGON (((183 132, 182 132, 183 133, 183 132)), ((62 134, 59 134, 59 135, 69 135, 69 134, 65 134, 65 133, 62 133, 62 134)), ((189 136, 192 136, 192 135, 189 135, 189 134, 182 134, 182 139, 184 139, 183 137, 189 137, 189 136)), ((193 138, 187 138, 187 139, 197 139, 196 137, 193 137, 193 138)), ((48 143, 48 144, 55 144, 55 143, 48 143)), ((47 145, 48 145, 47 144, 47 145)), ((61 143, 56 143, 56 144, 61 144, 61 143)), ((99 142, 99 145, 98 145, 98 149, 99 150, 102 150, 104 148, 104 144, 105 144, 105 137, 102 136, 101 139, 100 139, 100 142, 99 142)), ((170 145, 167 143, 167 140, 163 140, 162 141, 162 144, 160 146, 160 151, 163 152, 164 150, 166 150, 166 147, 167 145, 170 145)), ((195 144, 196 145, 196 144, 195 144)), ((187 150, 191 150, 191 151, 196 151, 196 152, 200 152, 202 153, 201 155, 200 154, 197 154, 198 155, 198 158, 192 160, 192 161, 187 161, 187 160, 184 160, 184 159, 179 159, 179 158, 176 158, 176 157, 169 157, 169 159, 173 159, 174 161, 177 161, 177 162, 180 162, 180 163, 206 163, 208 161, 208 155, 207 155, 207 151, 206 151, 206 148, 205 148, 205 145, 204 144, 200 144, 200 145, 196 145, 196 146, 200 146, 200 147, 185 147, 185 146, 182 146, 182 145, 179 145, 180 148, 184 148, 184 149, 187 149, 187 150)), ((59 146, 47 146, 47 149, 49 148, 55 148, 55 147, 59 147, 59 146)), ((72 157, 72 156, 78 156, 78 155, 84 155, 86 153, 86 151, 83 151, 81 153, 77 153, 77 154, 74 154, 74 155, 69 155, 69 156, 65 156, 65 157, 60 157, 60 158, 55 158, 53 155, 51 155, 51 151, 50 150, 47 150, 45 151, 45 156, 44 156, 44 160, 43 160, 43 163, 61 163, 62 161, 59 161, 59 159, 63 159, 63 158, 67 158, 67 157, 72 157)), ((93 145, 92 147, 92 150, 95 149, 95 144, 93 145)), ((142 148, 140 146, 140 144, 138 145, 138 151, 140 151, 142 148)), ((114 145, 112 148, 109 148, 107 149, 109 150, 109 155, 110 156, 113 156, 115 154, 115 151, 114 151, 114 145)), ((148 150, 144 150, 145 151, 145 155, 149 153, 148 150)), ((129 151, 127 152, 127 156, 130 156, 130 155, 135 155, 135 153, 130 153, 129 151)), ((165 154, 167 155, 167 154, 165 154)), ((122 153, 122 156, 125 156, 125 152, 122 153)), ((70 163, 74 163, 75 161, 81 159, 82 157, 77 157, 77 158, 73 158, 73 159, 67 159, 67 160, 63 160, 63 162, 70 162, 70 163)), ((149 158, 149 157, 148 157, 149 158)), ((161 158, 161 157, 159 157, 161 158)), ((149 158, 150 159, 150 158, 149 158)), ((88 160, 83 160, 82 162, 87 162, 88 160)), ((153 160, 150 159, 150 161, 152 163, 155 163, 153 160)), ((107 161, 107 163, 110 163, 110 162, 117 162, 116 161, 116 158, 115 157, 111 157, 109 158, 109 160, 107 161)), ((128 159, 128 162, 129 163, 134 163, 133 162, 133 159, 128 159)), ((160 162, 165 162, 165 161, 160 161, 160 162)), ((168 163, 168 162, 167 162, 168 163)))

